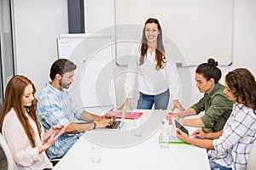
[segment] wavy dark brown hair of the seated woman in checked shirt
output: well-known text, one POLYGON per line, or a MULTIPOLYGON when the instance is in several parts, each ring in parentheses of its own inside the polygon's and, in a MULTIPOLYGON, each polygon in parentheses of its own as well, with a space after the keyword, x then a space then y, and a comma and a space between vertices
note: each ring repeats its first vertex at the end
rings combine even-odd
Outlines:
POLYGON ((233 92, 236 102, 241 99, 243 105, 253 109, 256 114, 256 82, 253 74, 244 68, 230 71, 225 82, 233 92))

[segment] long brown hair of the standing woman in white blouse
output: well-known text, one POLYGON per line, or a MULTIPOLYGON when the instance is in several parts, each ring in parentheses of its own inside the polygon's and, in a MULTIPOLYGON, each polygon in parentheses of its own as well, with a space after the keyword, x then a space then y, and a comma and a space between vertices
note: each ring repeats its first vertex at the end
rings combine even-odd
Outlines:
POLYGON ((147 55, 147 50, 148 50, 148 40, 145 36, 145 28, 146 25, 148 23, 154 23, 158 26, 158 31, 159 31, 159 35, 157 37, 157 46, 155 49, 155 59, 156 59, 156 65, 155 65, 155 69, 156 70, 160 70, 164 68, 165 65, 165 59, 166 59, 166 51, 164 48, 164 43, 163 43, 163 33, 162 33, 162 29, 160 26, 160 23, 157 19, 153 19, 153 18, 149 18, 144 25, 143 28, 143 37, 142 37, 142 47, 141 47, 141 57, 140 57, 140 63, 139 65, 143 65, 144 63, 144 59, 147 55))

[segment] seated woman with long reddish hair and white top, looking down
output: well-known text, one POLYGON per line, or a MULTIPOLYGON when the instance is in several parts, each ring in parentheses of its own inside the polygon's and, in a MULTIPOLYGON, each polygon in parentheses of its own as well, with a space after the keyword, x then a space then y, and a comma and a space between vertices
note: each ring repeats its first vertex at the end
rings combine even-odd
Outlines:
POLYGON ((62 125, 44 133, 36 114, 38 100, 34 97, 35 93, 34 84, 19 75, 9 80, 5 90, 0 132, 9 145, 16 169, 52 168, 44 150, 49 149, 63 133, 62 125))

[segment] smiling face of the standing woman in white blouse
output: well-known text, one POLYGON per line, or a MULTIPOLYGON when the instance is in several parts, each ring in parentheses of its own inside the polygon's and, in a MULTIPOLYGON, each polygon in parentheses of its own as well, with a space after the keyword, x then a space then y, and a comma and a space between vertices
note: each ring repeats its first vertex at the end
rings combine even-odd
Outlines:
POLYGON ((156 43, 157 37, 160 31, 158 30, 158 25, 155 23, 148 23, 145 26, 145 37, 149 44, 156 43))

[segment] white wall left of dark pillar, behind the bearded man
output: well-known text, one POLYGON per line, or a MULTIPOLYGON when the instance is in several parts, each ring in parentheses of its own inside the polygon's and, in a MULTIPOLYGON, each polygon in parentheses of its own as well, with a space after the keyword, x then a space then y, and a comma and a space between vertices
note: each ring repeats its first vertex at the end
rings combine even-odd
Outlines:
POLYGON ((13 0, 12 8, 15 73, 29 77, 40 91, 57 59, 56 38, 68 33, 67 0, 13 0))

